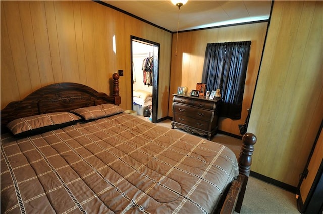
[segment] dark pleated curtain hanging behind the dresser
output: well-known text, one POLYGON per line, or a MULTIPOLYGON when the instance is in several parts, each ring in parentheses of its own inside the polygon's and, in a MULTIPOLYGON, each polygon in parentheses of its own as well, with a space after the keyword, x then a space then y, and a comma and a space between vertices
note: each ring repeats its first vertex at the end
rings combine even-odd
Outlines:
POLYGON ((209 43, 206 46, 202 83, 207 90, 220 89, 220 117, 241 118, 251 41, 209 43))

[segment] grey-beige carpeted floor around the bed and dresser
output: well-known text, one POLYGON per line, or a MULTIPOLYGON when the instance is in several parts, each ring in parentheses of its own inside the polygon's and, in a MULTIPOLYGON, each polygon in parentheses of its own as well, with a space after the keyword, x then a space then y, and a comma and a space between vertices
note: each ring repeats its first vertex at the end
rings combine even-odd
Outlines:
MULTIPOLYGON (((149 120, 148 118, 142 118, 144 120, 149 120)), ((171 120, 164 120, 159 122, 158 124, 171 128, 171 120)), ((177 130, 182 131, 180 129, 177 130)), ((226 145, 237 155, 237 157, 239 156, 241 147, 240 139, 236 139, 223 134, 217 134, 213 137, 212 141, 226 145)), ((254 177, 249 177, 247 190, 240 213, 297 214, 300 212, 297 209, 295 194, 254 177)))

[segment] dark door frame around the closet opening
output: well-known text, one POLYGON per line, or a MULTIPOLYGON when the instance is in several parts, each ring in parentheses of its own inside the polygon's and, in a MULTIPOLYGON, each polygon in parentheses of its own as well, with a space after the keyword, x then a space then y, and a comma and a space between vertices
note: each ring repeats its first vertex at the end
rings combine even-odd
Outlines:
MULTIPOLYGON (((158 93, 159 93, 159 55, 160 55, 160 44, 157 42, 149 41, 143 38, 139 38, 136 36, 130 36, 130 65, 132 65, 132 42, 142 42, 147 45, 154 46, 154 48, 158 48, 158 51, 154 51, 154 61, 153 61, 153 73, 152 73, 152 115, 151 115, 151 122, 157 123, 158 122, 158 93)), ((131 109, 133 110, 133 84, 132 84, 132 75, 133 75, 133 66, 131 66, 131 109)))

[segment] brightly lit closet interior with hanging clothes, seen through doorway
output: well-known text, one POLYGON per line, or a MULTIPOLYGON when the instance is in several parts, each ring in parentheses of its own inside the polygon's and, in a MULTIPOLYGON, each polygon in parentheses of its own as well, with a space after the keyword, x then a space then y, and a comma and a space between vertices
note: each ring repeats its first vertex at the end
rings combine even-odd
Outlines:
POLYGON ((137 115, 151 120, 154 46, 143 41, 132 40, 132 97, 133 110, 137 115))

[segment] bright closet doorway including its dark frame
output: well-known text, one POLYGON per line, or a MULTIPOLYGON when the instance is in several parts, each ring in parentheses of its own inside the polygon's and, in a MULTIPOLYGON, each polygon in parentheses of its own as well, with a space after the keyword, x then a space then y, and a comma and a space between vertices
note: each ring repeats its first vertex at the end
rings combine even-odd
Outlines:
POLYGON ((131 36, 132 110, 157 123, 160 44, 131 36))

